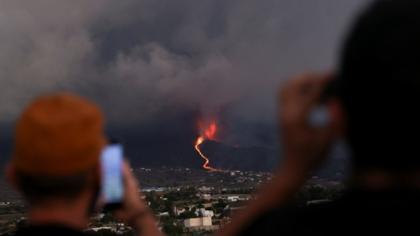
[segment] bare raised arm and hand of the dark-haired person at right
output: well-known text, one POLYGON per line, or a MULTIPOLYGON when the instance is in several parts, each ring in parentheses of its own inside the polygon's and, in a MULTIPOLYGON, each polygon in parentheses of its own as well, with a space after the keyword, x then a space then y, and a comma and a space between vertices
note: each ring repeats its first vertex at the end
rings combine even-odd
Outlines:
POLYGON ((235 214, 218 236, 234 236, 273 207, 286 204, 299 190, 307 173, 324 159, 333 138, 333 126, 313 128, 307 114, 316 105, 329 74, 303 74, 292 78, 279 94, 282 165, 258 198, 235 214))

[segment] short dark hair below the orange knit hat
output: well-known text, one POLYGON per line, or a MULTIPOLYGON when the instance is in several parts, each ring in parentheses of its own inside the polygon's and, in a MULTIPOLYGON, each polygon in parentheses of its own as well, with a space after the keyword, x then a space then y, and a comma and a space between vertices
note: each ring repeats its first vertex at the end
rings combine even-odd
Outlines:
POLYGON ((71 201, 88 186, 89 172, 66 177, 32 176, 17 173, 19 187, 30 204, 43 203, 50 199, 71 201))

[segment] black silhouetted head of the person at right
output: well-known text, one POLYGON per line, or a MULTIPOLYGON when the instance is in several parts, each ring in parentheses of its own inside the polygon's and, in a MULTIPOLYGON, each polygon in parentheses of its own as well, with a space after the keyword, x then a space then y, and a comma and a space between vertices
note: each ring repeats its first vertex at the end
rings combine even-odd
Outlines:
POLYGON ((420 1, 378 0, 363 12, 337 82, 354 165, 419 170, 420 1))

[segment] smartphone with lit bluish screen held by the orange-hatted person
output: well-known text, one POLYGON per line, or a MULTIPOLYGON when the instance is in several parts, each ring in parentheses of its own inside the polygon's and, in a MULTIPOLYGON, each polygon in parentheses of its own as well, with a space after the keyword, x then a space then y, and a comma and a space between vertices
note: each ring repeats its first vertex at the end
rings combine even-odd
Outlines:
POLYGON ((101 194, 105 201, 105 209, 119 208, 124 194, 122 145, 119 143, 107 145, 102 150, 100 161, 102 165, 101 194))

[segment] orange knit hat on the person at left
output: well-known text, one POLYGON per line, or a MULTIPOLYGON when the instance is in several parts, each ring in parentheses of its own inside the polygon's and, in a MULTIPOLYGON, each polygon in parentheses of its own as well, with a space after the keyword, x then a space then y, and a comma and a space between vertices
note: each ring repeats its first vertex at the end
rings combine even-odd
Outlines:
POLYGON ((88 170, 99 163, 102 130, 102 112, 92 102, 69 93, 38 97, 17 121, 12 163, 36 176, 88 170))

